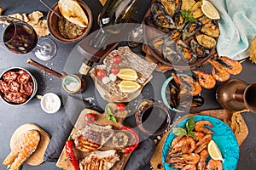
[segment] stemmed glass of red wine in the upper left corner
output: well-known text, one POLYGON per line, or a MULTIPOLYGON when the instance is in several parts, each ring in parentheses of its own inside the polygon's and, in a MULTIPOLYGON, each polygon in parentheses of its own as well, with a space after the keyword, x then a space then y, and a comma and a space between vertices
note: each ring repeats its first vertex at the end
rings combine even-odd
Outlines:
POLYGON ((33 49, 38 59, 49 60, 56 54, 55 42, 49 38, 38 40, 36 31, 23 20, 0 15, 1 47, 16 54, 27 54, 33 49))

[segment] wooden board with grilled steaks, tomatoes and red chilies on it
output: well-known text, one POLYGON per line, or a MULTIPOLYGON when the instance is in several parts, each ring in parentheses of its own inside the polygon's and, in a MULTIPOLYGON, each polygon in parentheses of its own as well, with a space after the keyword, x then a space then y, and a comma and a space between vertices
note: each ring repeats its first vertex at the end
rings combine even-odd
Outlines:
POLYGON ((124 117, 115 115, 114 119, 108 118, 109 113, 114 112, 113 104, 107 106, 106 112, 108 114, 100 114, 89 109, 81 112, 56 163, 57 167, 64 170, 125 167, 139 143, 137 133, 122 125, 124 117))

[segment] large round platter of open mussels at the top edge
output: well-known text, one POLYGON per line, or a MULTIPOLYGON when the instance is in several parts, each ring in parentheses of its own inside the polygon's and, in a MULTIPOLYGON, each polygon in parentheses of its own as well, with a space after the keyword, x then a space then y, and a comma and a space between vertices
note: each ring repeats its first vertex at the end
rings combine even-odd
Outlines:
POLYGON ((200 66, 216 54, 218 20, 209 19, 195 0, 155 0, 145 14, 149 52, 165 65, 200 66))

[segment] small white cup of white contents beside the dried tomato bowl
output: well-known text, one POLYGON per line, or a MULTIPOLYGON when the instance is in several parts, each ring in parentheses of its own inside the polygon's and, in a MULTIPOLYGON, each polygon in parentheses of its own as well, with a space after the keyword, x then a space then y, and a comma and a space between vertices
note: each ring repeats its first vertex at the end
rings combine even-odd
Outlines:
POLYGON ((53 93, 44 94, 41 99, 41 108, 49 114, 54 114, 61 108, 61 99, 53 93))

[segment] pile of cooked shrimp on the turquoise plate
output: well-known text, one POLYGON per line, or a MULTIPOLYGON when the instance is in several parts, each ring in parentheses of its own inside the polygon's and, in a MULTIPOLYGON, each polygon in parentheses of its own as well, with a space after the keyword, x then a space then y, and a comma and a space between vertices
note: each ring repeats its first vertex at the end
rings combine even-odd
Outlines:
POLYGON ((172 168, 181 170, 222 170, 222 161, 207 162, 209 153, 207 146, 212 140, 212 123, 209 121, 195 122, 195 139, 191 136, 177 136, 166 155, 166 163, 171 163, 172 168))

